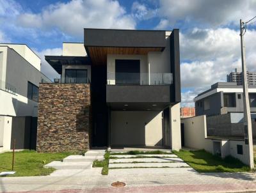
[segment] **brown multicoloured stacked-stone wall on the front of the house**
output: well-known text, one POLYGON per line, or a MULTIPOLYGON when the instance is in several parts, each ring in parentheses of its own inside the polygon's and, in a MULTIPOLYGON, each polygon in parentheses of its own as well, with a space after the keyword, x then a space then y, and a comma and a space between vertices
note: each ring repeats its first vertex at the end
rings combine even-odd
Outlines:
POLYGON ((89 148, 90 84, 40 84, 36 151, 89 148))

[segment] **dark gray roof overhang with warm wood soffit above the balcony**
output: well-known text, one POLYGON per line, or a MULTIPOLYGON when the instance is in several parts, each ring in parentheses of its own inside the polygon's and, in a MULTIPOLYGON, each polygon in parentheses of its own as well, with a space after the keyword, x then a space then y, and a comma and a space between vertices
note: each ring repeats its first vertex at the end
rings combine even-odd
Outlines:
POLYGON ((145 55, 165 46, 165 31, 84 29, 84 47, 93 65, 106 65, 108 54, 145 55))

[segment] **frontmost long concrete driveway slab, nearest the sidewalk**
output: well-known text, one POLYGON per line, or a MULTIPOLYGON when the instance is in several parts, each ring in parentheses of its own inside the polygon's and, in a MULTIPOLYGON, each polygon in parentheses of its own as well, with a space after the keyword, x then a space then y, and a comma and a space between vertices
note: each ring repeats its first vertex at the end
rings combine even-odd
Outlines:
POLYGON ((188 164, 182 162, 173 162, 173 163, 124 163, 124 164, 109 164, 109 169, 115 167, 189 167, 188 164))

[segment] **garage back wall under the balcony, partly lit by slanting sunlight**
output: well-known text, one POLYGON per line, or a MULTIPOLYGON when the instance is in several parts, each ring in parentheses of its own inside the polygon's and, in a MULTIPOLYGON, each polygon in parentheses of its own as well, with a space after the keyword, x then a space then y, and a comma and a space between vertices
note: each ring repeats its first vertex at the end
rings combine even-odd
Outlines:
POLYGON ((162 112, 111 111, 111 146, 163 146, 162 112))

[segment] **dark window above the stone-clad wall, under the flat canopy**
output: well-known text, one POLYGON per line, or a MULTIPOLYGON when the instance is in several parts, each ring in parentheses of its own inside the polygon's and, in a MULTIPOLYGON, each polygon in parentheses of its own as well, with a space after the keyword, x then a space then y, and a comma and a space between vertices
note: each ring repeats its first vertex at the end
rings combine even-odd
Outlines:
POLYGON ((87 83, 87 70, 65 70, 66 83, 87 83))

